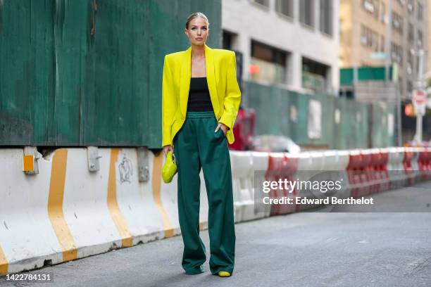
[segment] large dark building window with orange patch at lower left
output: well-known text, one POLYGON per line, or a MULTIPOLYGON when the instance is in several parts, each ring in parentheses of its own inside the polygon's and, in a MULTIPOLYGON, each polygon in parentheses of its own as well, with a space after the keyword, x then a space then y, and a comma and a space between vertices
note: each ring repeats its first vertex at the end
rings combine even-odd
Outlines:
POLYGON ((252 40, 251 79, 286 84, 287 57, 286 51, 252 40))

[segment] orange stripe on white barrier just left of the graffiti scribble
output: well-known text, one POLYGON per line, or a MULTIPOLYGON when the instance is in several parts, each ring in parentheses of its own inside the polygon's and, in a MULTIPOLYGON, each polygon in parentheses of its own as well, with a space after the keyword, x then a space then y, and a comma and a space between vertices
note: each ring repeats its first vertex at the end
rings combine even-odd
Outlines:
POLYGON ((127 222, 118 207, 117 201, 117 181, 115 176, 115 165, 118 160, 120 148, 111 148, 111 162, 109 164, 108 179, 108 210, 111 214, 115 227, 121 236, 121 247, 130 247, 133 245, 132 233, 127 226, 127 222))

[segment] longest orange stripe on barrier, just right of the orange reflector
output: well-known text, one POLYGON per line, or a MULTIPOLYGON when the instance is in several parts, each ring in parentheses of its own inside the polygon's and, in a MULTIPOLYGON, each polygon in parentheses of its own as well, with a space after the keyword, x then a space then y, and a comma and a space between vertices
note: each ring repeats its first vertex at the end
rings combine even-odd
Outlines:
POLYGON ((65 186, 66 164, 68 150, 61 148, 52 158, 51 181, 49 183, 48 215, 52 228, 56 233, 58 243, 63 250, 63 262, 75 260, 77 249, 72 233, 63 214, 63 198, 65 186))

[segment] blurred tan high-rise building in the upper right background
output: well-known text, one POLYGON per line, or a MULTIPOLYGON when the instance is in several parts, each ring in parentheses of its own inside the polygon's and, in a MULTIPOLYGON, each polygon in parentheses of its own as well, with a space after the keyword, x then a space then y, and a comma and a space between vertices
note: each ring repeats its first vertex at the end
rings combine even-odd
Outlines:
MULTIPOLYGON (((427 0, 392 1, 389 56, 399 68, 401 98, 411 98, 418 79, 418 51, 428 46, 427 0)), ((341 0, 339 64, 342 68, 384 66, 389 0, 341 0)), ((424 58, 424 72, 427 69, 424 58)), ((376 98, 377 99, 377 98, 376 98)))

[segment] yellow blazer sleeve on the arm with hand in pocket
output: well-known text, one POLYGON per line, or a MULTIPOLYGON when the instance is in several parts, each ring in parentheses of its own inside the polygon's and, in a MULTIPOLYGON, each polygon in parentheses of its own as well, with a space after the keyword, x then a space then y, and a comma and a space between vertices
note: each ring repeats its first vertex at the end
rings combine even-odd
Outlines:
POLYGON ((241 103, 241 91, 239 90, 237 82, 237 60, 235 58, 235 52, 231 53, 229 64, 227 66, 227 79, 226 79, 226 93, 225 100, 223 103, 223 115, 219 122, 227 125, 229 129, 233 128, 237 113, 239 109, 239 103, 241 103))

